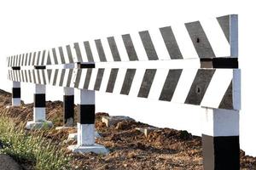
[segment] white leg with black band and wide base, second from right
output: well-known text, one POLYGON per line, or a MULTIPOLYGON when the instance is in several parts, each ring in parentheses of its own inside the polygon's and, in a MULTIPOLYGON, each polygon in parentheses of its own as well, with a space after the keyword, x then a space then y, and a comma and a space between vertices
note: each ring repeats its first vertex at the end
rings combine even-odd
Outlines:
POLYGON ((101 144, 95 144, 95 91, 79 90, 78 144, 68 146, 73 152, 107 154, 101 144))

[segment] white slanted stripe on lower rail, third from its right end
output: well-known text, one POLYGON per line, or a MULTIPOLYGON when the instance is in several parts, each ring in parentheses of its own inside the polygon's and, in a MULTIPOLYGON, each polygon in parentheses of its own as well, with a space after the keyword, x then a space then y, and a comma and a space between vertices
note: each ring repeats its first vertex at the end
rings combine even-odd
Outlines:
POLYGON ((148 99, 159 99, 162 88, 166 82, 166 77, 168 75, 169 70, 167 69, 157 69, 154 75, 154 81, 151 85, 148 99))

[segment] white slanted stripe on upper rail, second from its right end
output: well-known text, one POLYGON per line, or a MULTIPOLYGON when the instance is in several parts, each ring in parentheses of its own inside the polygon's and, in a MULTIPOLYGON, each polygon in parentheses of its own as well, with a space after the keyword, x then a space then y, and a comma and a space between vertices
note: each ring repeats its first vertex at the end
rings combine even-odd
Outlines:
POLYGON ((172 32, 176 38, 180 52, 183 54, 183 59, 198 58, 198 54, 195 51, 195 47, 185 25, 179 23, 173 25, 172 32))

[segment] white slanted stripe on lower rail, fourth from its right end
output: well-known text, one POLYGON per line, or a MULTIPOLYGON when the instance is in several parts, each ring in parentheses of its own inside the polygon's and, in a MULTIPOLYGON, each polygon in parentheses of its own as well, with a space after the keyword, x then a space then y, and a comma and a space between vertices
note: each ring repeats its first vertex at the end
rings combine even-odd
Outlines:
POLYGON ((134 78, 131 83, 129 96, 137 97, 137 94, 139 93, 139 90, 143 82, 143 76, 145 71, 146 71, 145 69, 136 69, 134 78))

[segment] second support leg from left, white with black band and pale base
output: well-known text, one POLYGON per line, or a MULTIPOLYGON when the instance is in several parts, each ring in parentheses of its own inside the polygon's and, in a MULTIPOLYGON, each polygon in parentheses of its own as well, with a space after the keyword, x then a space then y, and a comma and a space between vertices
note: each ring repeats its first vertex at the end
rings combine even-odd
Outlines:
POLYGON ((36 84, 34 94, 33 121, 26 123, 27 129, 53 127, 52 122, 45 118, 45 85, 36 84))

